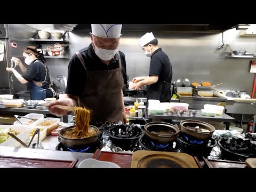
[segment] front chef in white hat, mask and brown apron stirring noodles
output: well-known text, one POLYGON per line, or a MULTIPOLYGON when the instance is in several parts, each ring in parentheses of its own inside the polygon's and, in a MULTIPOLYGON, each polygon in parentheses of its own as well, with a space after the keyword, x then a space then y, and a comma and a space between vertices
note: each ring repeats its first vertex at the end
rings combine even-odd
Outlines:
POLYGON ((76 52, 68 67, 67 98, 51 103, 52 114, 67 115, 55 105, 81 106, 92 110, 91 125, 106 121, 126 122, 123 84, 126 63, 118 51, 122 24, 92 24, 92 43, 76 52))

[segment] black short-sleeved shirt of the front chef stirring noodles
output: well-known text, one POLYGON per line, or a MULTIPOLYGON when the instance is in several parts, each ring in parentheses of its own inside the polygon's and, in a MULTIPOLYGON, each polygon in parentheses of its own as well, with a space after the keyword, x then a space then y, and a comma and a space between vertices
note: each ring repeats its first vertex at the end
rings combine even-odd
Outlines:
MULTIPOLYGON (((85 60, 88 71, 116 69, 119 67, 119 59, 121 58, 124 84, 127 83, 126 62, 123 52, 119 51, 120 57, 118 56, 118 54, 116 54, 114 58, 111 59, 111 61, 109 62, 109 65, 103 63, 101 59, 95 54, 92 44, 80 50, 79 52, 82 54, 82 57, 85 60)), ((74 54, 68 66, 68 84, 66 93, 76 96, 81 95, 83 92, 83 87, 86 83, 85 76, 86 69, 83 67, 77 55, 74 54)))

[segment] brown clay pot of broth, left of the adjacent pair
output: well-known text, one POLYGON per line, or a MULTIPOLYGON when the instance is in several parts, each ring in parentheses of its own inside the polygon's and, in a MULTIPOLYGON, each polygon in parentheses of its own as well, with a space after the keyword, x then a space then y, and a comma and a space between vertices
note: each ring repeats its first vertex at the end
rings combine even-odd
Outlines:
POLYGON ((174 141, 177 139, 179 132, 179 127, 170 123, 151 122, 145 125, 146 135, 159 143, 174 141))

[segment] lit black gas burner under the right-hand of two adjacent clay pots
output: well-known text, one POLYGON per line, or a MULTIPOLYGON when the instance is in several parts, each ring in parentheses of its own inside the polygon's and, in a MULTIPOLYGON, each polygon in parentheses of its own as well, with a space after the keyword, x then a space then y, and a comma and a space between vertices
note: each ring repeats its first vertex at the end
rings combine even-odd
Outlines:
POLYGON ((178 141, 180 141, 181 151, 187 153, 191 156, 196 156, 199 161, 203 161, 202 157, 207 157, 210 155, 212 148, 217 146, 217 141, 214 138, 204 141, 202 144, 189 143, 182 134, 179 135, 178 141), (206 143, 206 145, 205 145, 206 143))

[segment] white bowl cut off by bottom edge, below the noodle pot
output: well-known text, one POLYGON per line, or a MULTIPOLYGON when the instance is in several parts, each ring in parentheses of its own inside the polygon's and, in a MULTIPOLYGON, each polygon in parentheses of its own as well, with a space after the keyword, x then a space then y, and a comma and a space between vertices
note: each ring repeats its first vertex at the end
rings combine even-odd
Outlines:
POLYGON ((89 158, 82 161, 79 164, 78 168, 121 168, 121 167, 112 162, 98 161, 96 159, 89 158))

